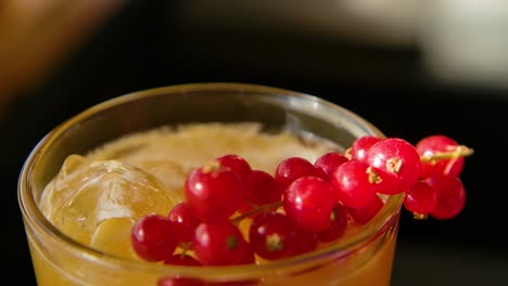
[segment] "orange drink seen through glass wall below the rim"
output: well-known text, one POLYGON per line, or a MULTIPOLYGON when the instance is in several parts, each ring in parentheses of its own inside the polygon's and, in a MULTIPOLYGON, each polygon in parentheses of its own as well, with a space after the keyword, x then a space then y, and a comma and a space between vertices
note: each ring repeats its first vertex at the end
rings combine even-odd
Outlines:
MULTIPOLYGON (((394 226, 396 227, 396 225, 394 226)), ((389 286, 392 273, 396 242, 396 229, 371 245, 346 256, 341 260, 328 262, 320 268, 305 271, 261 275, 258 285, 342 285, 389 286)), ((29 242, 37 283, 40 286, 66 285, 156 285, 161 275, 134 272, 122 269, 104 269, 101 263, 88 261, 86 257, 73 257, 62 249, 41 249, 29 242), (46 251, 46 252, 45 252, 46 251), (51 252, 51 258, 47 252, 51 252)), ((249 275, 249 273, 244 273, 249 275)), ((257 285, 257 284, 252 284, 257 285)))

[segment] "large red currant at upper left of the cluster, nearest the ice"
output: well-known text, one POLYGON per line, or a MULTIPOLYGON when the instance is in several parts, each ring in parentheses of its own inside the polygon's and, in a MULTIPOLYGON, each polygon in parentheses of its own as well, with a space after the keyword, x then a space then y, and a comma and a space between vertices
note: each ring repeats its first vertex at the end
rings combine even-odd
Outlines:
POLYGON ((202 221, 229 218, 243 199, 245 184, 217 161, 194 169, 186 181, 186 198, 202 221))

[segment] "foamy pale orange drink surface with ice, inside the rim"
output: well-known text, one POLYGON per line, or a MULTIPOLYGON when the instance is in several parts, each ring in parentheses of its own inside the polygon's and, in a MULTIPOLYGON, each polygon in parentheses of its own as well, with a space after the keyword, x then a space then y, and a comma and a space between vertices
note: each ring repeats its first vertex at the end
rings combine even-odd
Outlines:
POLYGON ((40 209, 74 239, 137 259, 128 236, 134 221, 148 213, 166 216, 183 199, 192 169, 237 154, 253 169, 272 174, 285 158, 314 162, 332 148, 336 146, 312 136, 263 132, 255 122, 160 128, 109 142, 85 156, 71 155, 43 191, 40 209))

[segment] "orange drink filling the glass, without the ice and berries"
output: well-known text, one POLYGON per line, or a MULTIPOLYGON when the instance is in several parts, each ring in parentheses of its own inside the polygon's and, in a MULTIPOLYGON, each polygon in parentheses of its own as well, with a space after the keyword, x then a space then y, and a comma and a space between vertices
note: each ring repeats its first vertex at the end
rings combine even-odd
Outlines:
MULTIPOLYGON (((332 147, 323 142, 321 142, 322 144, 319 144, 319 142, 314 142, 310 145, 304 144, 300 139, 289 133, 259 134, 256 126, 241 126, 243 135, 239 136, 238 128, 238 126, 232 129, 227 129, 224 126, 193 126, 187 129, 187 133, 158 131, 144 133, 106 145, 88 155, 85 161, 114 158, 122 162, 131 164, 153 174, 161 181, 161 185, 181 197, 179 192, 181 192, 186 173, 206 160, 224 154, 242 155, 253 168, 264 169, 272 173, 276 165, 283 158, 302 156, 314 161, 319 155, 332 147), (189 138, 191 138, 190 141, 189 138), (211 141, 213 143, 209 143, 211 141), (164 158, 170 159, 172 164, 157 168, 164 161, 164 158)), ((73 169, 75 166, 71 167, 73 169)), ((46 204, 47 212, 51 212, 50 207, 53 207, 51 197, 56 196, 56 194, 58 192, 51 195, 46 194, 46 198, 43 195, 42 202, 46 199, 43 204, 46 204)), ((88 198, 91 196, 82 197, 88 198)), ((85 203, 88 204, 89 202, 85 203)), ((85 206, 88 206, 87 204, 85 206)), ((169 209, 161 212, 167 213, 169 209)), ((129 220, 134 221, 136 219, 136 210, 128 213, 130 213, 128 214, 130 217, 127 217, 128 220, 112 221, 112 226, 104 226, 103 232, 99 232, 99 234, 98 231, 94 231, 94 233, 80 231, 75 225, 67 227, 67 224, 63 224, 61 229, 68 236, 84 244, 92 246, 97 244, 97 248, 104 252, 137 260, 128 243, 129 220)), ((65 218, 65 216, 63 217, 65 218)), ((104 221, 111 219, 115 218, 109 217, 104 221)), ((62 221, 60 223, 73 223, 73 221, 62 221)), ((252 268, 238 268, 236 273, 230 273, 233 276, 231 281, 252 283, 242 285, 388 286, 390 285, 397 227, 397 216, 395 216, 391 224, 380 231, 376 237, 354 249, 347 249, 347 252, 336 252, 319 261, 302 262, 284 268, 267 268, 263 271, 256 271, 252 268)), ((28 226, 27 234, 37 282, 40 286, 157 285, 160 278, 175 274, 170 270, 168 270, 168 273, 164 273, 161 268, 156 270, 149 269, 151 266, 149 263, 145 263, 144 266, 139 266, 139 263, 137 266, 132 266, 130 262, 124 263, 125 261, 119 262, 115 258, 98 256, 97 252, 72 248, 62 244, 59 239, 55 240, 53 236, 43 235, 38 230, 28 226)), ((169 269, 170 266, 164 265, 164 268, 169 269)), ((192 275, 192 273, 185 275, 192 275)), ((196 275, 203 277, 203 275, 206 276, 206 273, 203 274, 203 271, 199 270, 196 275)), ((217 278, 214 275, 205 277, 205 280, 214 282, 217 278)), ((228 277, 223 276, 220 278, 228 277)))

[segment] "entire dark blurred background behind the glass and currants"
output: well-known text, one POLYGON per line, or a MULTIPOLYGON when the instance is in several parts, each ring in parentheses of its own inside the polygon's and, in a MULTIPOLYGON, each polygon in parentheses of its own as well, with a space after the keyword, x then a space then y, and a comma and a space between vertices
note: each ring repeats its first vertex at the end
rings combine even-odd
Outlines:
POLYGON ((468 198, 458 218, 416 221, 403 211, 393 285, 508 285, 508 246, 501 234, 508 202, 508 4, 35 3, 0 3, 0 180, 8 281, 35 284, 16 180, 47 132, 124 93, 238 81, 323 98, 389 136, 416 143, 443 133, 474 148, 461 177, 468 198))

